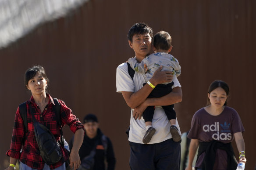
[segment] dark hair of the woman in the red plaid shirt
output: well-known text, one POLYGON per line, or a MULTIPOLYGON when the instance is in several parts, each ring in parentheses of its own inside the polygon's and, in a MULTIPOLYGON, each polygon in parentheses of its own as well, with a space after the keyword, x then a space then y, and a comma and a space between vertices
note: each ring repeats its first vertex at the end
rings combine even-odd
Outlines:
MULTIPOLYGON (((32 66, 31 68, 27 69, 24 76, 24 83, 25 87, 27 88, 28 81, 32 79, 34 76, 36 76, 36 73, 39 73, 39 75, 43 76, 43 78, 47 81, 47 85, 49 84, 49 79, 46 76, 45 70, 42 66, 32 66)), ((47 88, 48 86, 46 86, 47 88)))

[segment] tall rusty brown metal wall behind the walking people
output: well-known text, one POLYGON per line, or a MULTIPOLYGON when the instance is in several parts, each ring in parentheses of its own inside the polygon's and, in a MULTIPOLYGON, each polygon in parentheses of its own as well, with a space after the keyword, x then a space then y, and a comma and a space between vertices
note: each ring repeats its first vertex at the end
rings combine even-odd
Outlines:
MULTIPOLYGON (((23 75, 42 65, 50 78, 49 91, 82 119, 94 113, 113 142, 116 170, 128 170, 129 146, 125 130, 130 109, 116 93, 116 67, 134 52, 127 32, 145 22, 172 36, 171 54, 181 64, 178 77, 183 101, 175 104, 181 131, 188 131, 193 114, 205 106, 213 80, 230 86, 228 105, 245 127, 246 169, 256 159, 256 1, 90 0, 67 17, 48 22, 0 50, 0 169, 8 164, 15 111, 30 97, 23 75)), ((68 128, 66 138, 71 138, 68 128)), ((233 142, 238 156, 235 141, 233 142)))

